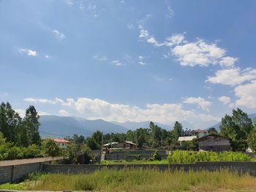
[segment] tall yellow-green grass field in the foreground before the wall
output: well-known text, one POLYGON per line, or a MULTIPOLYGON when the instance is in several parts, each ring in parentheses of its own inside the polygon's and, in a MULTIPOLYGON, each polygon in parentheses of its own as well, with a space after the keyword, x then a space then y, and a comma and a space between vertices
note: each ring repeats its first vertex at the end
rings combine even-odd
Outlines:
POLYGON ((184 172, 104 169, 91 174, 42 174, 0 188, 51 191, 256 191, 256 177, 227 170, 184 172), (34 177, 35 178, 35 177, 34 177))

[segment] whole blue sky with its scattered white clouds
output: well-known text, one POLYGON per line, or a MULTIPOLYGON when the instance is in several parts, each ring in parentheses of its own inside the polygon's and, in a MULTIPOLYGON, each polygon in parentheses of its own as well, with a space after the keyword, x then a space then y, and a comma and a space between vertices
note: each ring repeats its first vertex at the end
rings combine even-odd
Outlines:
POLYGON ((0 100, 206 128, 256 112, 256 2, 0 1, 0 100))

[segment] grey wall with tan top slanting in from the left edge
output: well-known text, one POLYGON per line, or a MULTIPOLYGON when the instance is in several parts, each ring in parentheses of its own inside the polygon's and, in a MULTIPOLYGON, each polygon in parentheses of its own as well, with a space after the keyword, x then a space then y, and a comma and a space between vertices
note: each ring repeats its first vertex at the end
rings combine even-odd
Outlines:
POLYGON ((31 158, 28 160, 20 159, 13 161, 0 161, 0 183, 16 182, 19 180, 23 180, 23 178, 26 177, 28 174, 32 172, 39 172, 40 170, 42 170, 42 164, 48 164, 51 161, 58 161, 60 159, 62 158, 48 157, 31 158))

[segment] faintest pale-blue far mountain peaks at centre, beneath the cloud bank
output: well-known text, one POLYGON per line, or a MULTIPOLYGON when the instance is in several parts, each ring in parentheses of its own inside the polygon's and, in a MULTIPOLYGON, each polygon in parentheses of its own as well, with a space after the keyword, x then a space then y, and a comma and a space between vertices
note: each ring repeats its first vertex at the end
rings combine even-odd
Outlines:
MULTIPOLYGON (((115 121, 111 121, 111 123, 114 123, 118 126, 124 126, 130 130, 135 130, 137 128, 149 128, 149 123, 150 121, 142 121, 142 122, 132 122, 132 121, 127 121, 127 122, 124 122, 124 123, 118 123, 118 122, 115 122, 115 121)), ((162 123, 157 123, 157 122, 154 122, 155 125, 161 127, 161 128, 165 128, 166 130, 170 130, 170 129, 173 129, 172 126, 167 126, 165 124, 162 124, 162 123)))

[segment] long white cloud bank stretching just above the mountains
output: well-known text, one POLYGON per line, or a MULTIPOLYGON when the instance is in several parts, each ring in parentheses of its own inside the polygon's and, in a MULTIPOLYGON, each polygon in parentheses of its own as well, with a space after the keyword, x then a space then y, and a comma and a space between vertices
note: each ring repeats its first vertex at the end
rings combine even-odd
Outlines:
MULTIPOLYGON (((43 101, 45 104, 56 104, 56 99, 35 99, 43 101), (45 101, 47 100, 47 101, 45 101)), ((60 99, 61 100, 61 99, 60 99)), ((127 104, 113 104, 101 99, 67 99, 61 100, 57 104, 76 110, 80 117, 88 119, 103 119, 108 121, 125 122, 152 120, 159 123, 173 123, 178 121, 188 121, 197 127, 206 128, 217 123, 220 118, 196 113, 193 110, 184 110, 182 104, 147 104, 146 107, 130 106, 127 104)), ((64 111, 59 113, 67 115, 64 111)))

